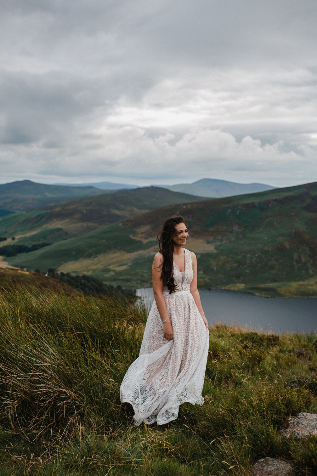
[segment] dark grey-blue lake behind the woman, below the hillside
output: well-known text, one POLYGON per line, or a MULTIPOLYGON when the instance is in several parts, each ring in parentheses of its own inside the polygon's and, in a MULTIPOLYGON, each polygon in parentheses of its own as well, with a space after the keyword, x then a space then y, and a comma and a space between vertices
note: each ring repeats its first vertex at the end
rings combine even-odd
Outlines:
MULTIPOLYGON (((222 322, 276 334, 317 331, 317 298, 259 297, 225 289, 202 289, 199 293, 210 325, 222 322)), ((153 288, 137 289, 137 295, 151 307, 153 288)))

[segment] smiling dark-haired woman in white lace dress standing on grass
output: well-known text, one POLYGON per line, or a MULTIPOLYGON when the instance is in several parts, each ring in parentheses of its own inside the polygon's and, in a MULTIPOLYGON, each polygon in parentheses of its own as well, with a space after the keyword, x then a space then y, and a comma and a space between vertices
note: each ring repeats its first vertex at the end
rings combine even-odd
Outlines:
POLYGON ((155 301, 146 322, 140 355, 120 387, 136 425, 163 425, 181 403, 202 404, 209 332, 197 289, 197 260, 184 249, 188 238, 181 215, 168 218, 152 266, 155 301))

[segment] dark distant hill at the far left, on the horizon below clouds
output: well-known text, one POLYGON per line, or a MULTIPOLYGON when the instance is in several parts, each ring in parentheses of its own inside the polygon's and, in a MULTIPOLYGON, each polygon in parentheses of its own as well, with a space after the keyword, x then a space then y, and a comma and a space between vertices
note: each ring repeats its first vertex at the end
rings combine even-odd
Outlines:
POLYGON ((70 198, 101 193, 104 192, 95 187, 45 185, 31 180, 20 180, 0 185, 0 208, 2 212, 29 210, 70 198))

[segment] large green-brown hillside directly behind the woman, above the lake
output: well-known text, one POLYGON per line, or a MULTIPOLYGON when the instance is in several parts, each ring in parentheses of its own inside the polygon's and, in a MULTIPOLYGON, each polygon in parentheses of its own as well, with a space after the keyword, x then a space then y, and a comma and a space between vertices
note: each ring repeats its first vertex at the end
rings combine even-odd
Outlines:
POLYGON ((187 219, 200 288, 317 296, 317 183, 157 208, 10 263, 88 272, 125 288, 149 286, 155 236, 173 213, 187 219))

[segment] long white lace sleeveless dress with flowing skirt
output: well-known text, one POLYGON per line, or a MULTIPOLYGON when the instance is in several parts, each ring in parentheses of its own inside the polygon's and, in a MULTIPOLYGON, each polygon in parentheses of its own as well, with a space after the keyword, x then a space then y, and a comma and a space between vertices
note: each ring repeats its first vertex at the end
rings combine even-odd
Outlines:
POLYGON ((192 258, 185 249, 185 272, 174 263, 177 291, 163 289, 172 321, 173 340, 163 336, 163 323, 154 301, 146 322, 139 357, 131 364, 120 387, 121 402, 131 403, 136 425, 163 425, 178 416, 184 402, 203 403, 209 332, 190 293, 192 258))

